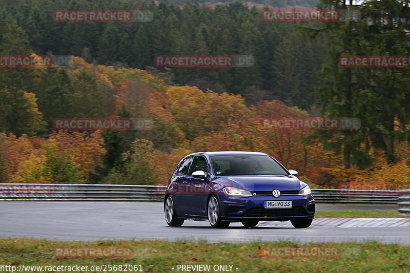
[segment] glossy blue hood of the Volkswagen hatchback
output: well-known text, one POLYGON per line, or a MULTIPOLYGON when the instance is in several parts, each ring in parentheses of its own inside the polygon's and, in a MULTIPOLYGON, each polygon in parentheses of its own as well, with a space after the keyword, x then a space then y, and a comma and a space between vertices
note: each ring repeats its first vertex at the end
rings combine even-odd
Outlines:
POLYGON ((290 175, 257 175, 257 176, 219 176, 216 180, 231 187, 243 188, 248 191, 298 191, 306 184, 290 175))

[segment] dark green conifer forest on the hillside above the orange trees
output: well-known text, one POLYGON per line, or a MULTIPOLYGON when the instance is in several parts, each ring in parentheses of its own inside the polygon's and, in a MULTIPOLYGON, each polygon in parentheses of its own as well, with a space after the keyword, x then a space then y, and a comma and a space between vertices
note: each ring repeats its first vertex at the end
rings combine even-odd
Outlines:
POLYGON ((316 75, 326 57, 323 39, 304 38, 292 23, 262 22, 260 9, 239 2, 215 8, 198 3, 181 8, 169 1, 158 5, 132 0, 2 2, 0 14, 8 22, 16 20, 37 54, 75 55, 96 64, 148 69, 169 83, 241 94, 251 103, 280 99, 288 106, 309 109, 316 75), (52 16, 56 9, 151 10, 154 19, 146 23, 59 23, 52 16), (170 78, 170 73, 164 73, 167 70, 153 69, 154 56, 166 54, 252 55, 255 65, 171 68, 170 78))

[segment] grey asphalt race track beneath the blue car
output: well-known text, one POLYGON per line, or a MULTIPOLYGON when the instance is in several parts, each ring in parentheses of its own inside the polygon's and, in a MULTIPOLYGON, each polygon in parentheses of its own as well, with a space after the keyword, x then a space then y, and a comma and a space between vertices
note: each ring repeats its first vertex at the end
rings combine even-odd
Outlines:
MULTIPOLYGON (((211 228, 208 221, 185 221, 170 227, 162 203, 137 202, 0 202, 1 238, 50 240, 202 239, 208 242, 293 240, 297 242, 363 241, 410 245, 410 218, 318 218, 310 228, 290 222, 260 222, 255 228, 232 223, 228 229, 211 228), (343 220, 344 219, 344 220, 343 220), (363 227, 359 227, 363 226, 363 227)), ((317 205, 329 209, 397 209, 396 206, 317 205)))

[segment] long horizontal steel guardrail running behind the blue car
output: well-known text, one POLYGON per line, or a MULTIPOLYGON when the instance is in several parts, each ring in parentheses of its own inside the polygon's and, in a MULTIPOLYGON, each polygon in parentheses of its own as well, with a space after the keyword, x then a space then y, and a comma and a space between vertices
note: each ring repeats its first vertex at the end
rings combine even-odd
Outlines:
MULTIPOLYGON (((0 183, 0 201, 161 202, 166 187, 161 185, 0 183)), ((397 191, 312 189, 312 194, 317 203, 330 204, 397 204, 398 198, 397 191)), ((408 204, 410 202, 406 203, 408 204)), ((409 207, 407 208, 410 210, 409 207)))

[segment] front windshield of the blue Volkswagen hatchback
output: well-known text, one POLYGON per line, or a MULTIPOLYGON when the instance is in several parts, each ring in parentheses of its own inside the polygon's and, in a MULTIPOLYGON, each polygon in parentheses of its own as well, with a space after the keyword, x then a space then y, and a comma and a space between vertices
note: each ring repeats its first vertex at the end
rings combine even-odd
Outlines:
POLYGON ((265 155, 211 156, 215 175, 287 175, 273 158, 265 155))

